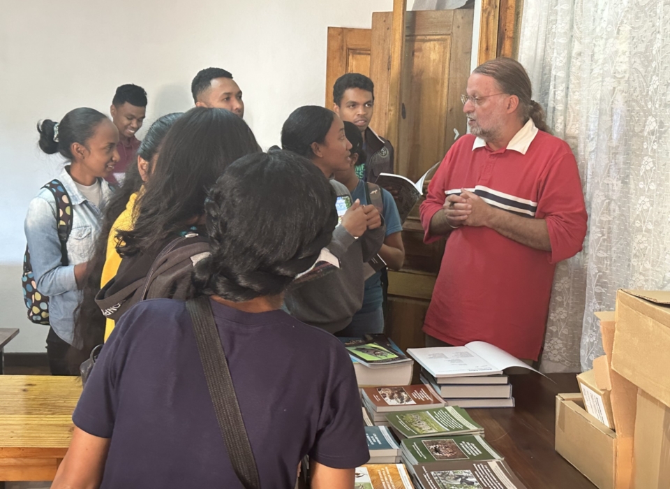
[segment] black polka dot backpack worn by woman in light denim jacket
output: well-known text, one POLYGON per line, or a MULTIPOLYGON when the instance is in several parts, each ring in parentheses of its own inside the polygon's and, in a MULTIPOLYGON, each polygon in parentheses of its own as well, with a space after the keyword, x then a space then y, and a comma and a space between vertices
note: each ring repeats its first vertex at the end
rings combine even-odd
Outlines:
MULTIPOLYGON (((58 227, 58 239, 61 242, 61 263, 68 265, 67 242, 72 231, 72 205, 70 196, 65 191, 63 184, 59 180, 52 180, 47 183, 43 189, 49 189, 56 199, 58 217, 56 223, 58 227)), ((35 275, 30 264, 30 251, 26 246, 26 253, 23 256, 23 275, 21 277, 23 288, 23 298, 28 308, 28 319, 37 324, 49 324, 49 298, 37 290, 35 275)))

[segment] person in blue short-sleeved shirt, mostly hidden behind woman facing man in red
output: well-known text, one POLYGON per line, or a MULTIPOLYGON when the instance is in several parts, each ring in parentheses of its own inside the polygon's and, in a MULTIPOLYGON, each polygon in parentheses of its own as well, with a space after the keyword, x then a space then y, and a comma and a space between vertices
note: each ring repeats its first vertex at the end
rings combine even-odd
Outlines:
MULTIPOLYGON (((335 180, 347 187, 351 192, 351 198, 360 200, 364 205, 376 204, 382 208, 379 211, 384 216, 386 223, 386 237, 379 250, 379 256, 387 267, 392 270, 403 268, 405 261, 405 247, 403 246, 403 224, 400 221, 398 207, 393 197, 385 189, 376 184, 364 182, 358 177, 357 166, 366 161, 363 151, 363 136, 361 131, 351 122, 344 122, 344 131, 347 139, 352 145, 351 163, 346 170, 335 172, 335 180)), ((338 336, 362 337, 375 333, 384 333, 384 312, 382 302, 382 271, 375 271, 372 277, 365 281, 363 305, 354 314, 349 326, 338 333, 338 336)))

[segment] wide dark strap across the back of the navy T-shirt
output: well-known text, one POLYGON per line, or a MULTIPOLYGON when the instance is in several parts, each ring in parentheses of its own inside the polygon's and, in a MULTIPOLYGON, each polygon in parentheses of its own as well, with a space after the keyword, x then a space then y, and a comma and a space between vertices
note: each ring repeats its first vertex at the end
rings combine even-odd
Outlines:
POLYGON ((188 314, 191 314, 204 377, 207 379, 216 421, 221 428, 232 468, 245 489, 260 489, 258 468, 244 428, 244 419, 239 411, 237 395, 228 370, 221 337, 214 322, 214 314, 211 312, 209 297, 202 295, 188 300, 186 309, 188 314))

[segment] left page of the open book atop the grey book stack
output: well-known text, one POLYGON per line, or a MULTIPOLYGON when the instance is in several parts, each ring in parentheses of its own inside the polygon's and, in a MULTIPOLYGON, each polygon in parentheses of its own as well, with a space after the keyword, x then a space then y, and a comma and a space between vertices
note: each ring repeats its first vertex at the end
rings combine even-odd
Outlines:
POLYGON ((410 348, 407 353, 435 378, 502 373, 502 369, 484 360, 481 355, 466 346, 410 348))

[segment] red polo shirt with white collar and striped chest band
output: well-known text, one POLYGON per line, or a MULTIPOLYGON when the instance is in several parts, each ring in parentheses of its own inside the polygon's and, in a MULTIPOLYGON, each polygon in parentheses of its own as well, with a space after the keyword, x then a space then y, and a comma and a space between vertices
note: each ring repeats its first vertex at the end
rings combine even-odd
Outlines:
MULTIPOLYGON (((576 161, 565 141, 529 121, 525 144, 491 150, 475 136, 447 152, 421 205, 426 243, 431 218, 447 194, 474 189, 489 205, 545 219, 551 252, 505 238, 491 228, 462 226, 449 235, 424 332, 456 346, 480 340, 517 358, 537 360, 544 341, 556 263, 581 250, 586 207, 576 161), (531 132, 530 136, 528 131, 531 132), (534 135, 534 136, 533 136, 534 135), (526 149, 523 154, 523 149, 526 149)), ((518 138, 515 139, 518 143, 518 138)))

